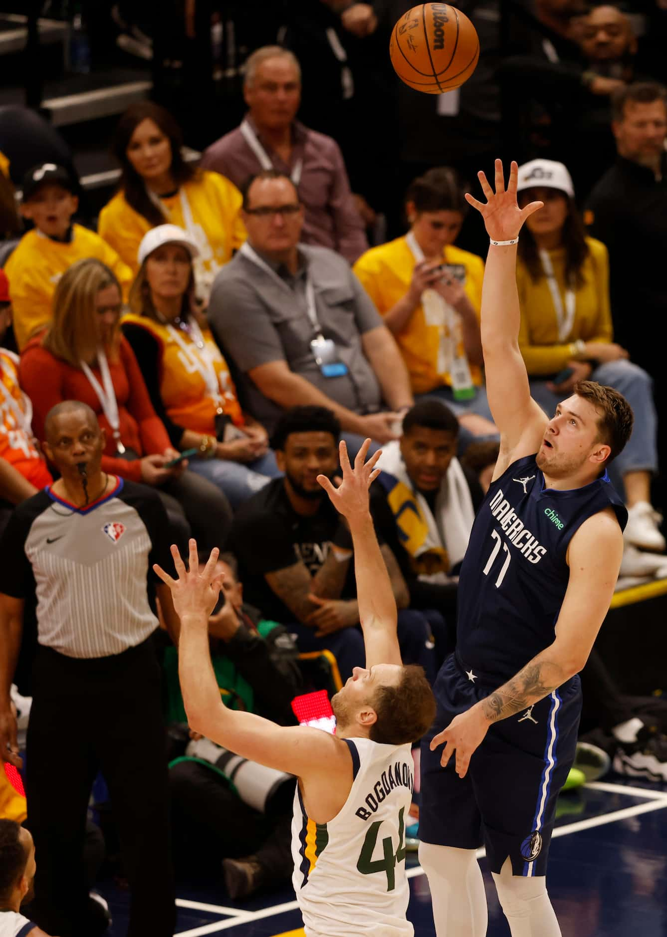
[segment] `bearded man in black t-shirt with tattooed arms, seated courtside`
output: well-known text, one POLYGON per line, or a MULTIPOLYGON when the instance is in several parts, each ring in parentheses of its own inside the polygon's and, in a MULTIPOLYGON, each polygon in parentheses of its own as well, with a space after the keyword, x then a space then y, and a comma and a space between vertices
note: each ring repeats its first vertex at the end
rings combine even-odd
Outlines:
MULTIPOLYGON (((348 528, 334 510, 318 475, 333 477, 340 426, 331 410, 296 407, 274 435, 278 466, 274 479, 237 513, 231 543, 250 602, 295 632, 302 651, 330 650, 345 681, 363 666, 363 636, 350 560, 348 528)), ((382 556, 392 580, 403 660, 433 676, 430 629, 407 609, 408 588, 388 546, 382 556)))

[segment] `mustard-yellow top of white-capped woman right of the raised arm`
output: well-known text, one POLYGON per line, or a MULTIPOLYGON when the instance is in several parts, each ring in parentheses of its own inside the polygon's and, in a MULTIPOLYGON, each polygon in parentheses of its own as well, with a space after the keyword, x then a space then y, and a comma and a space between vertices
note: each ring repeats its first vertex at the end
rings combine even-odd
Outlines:
MULTIPOLYGON (((601 241, 587 237, 588 256, 582 267, 584 282, 575 290, 574 319, 564 341, 558 338, 558 319, 546 276, 533 282, 526 264, 516 266, 516 285, 521 305, 519 347, 531 377, 555 375, 572 358, 571 343, 611 342, 612 313, 609 305, 609 254, 601 241)), ((565 310, 565 249, 550 250, 554 275, 565 310)))

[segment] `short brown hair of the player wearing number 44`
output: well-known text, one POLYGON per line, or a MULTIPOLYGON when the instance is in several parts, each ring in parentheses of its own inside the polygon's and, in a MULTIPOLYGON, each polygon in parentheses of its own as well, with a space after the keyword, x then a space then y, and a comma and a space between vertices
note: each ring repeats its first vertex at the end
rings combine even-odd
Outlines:
POLYGON ((436 718, 436 700, 422 667, 409 663, 395 687, 378 687, 373 704, 378 721, 370 739, 383 745, 416 742, 436 718))

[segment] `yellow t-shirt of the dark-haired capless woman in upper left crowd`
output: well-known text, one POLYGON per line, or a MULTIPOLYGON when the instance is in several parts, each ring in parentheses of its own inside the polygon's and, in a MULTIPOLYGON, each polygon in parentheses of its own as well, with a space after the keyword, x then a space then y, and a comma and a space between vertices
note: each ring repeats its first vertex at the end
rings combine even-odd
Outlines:
MULTIPOLYGON (((239 215, 243 201, 241 192, 218 172, 202 171, 197 179, 186 182, 182 191, 192 213, 196 228, 195 240, 200 247, 200 260, 209 279, 231 260, 232 253, 245 241, 245 226, 239 215)), ((181 191, 160 199, 165 223, 186 228, 181 191)), ((153 225, 131 208, 123 192, 117 192, 99 213, 97 231, 120 254, 136 275, 137 254, 141 238, 153 225)))

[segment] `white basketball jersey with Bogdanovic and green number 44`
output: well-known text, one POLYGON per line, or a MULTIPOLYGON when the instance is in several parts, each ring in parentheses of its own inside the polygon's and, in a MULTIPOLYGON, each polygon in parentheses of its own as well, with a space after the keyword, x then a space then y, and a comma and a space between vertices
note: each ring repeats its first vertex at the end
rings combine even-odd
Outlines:
POLYGON ((306 937, 410 937, 406 920, 405 829, 414 763, 409 745, 344 739, 352 756, 351 790, 329 823, 305 810, 299 786, 292 820, 292 884, 306 937))

